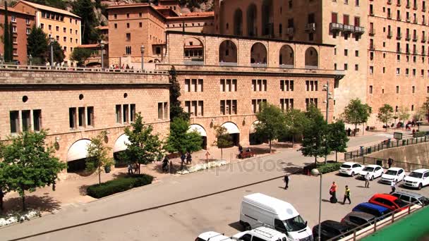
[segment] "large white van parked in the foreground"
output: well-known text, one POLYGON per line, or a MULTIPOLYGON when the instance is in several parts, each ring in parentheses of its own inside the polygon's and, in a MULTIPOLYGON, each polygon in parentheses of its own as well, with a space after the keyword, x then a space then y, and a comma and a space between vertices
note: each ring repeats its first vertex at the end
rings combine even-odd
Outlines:
POLYGON ((308 228, 307 222, 301 218, 294 206, 262 193, 243 197, 240 223, 246 230, 264 223, 286 234, 287 240, 313 240, 313 233, 308 228))

